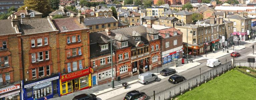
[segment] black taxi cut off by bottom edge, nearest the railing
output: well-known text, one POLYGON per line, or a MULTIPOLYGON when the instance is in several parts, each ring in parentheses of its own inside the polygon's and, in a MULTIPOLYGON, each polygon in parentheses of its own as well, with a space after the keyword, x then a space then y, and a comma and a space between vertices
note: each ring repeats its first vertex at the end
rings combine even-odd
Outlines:
POLYGON ((130 91, 128 92, 125 97, 123 98, 123 100, 135 100, 138 98, 145 98, 147 95, 144 92, 139 92, 136 90, 130 91))

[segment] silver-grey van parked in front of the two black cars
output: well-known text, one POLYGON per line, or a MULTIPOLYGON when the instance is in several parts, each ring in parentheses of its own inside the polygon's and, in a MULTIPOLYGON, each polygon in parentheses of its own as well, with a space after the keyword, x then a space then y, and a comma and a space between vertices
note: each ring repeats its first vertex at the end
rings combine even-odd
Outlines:
POLYGON ((151 72, 147 72, 147 73, 142 73, 139 75, 138 77, 138 82, 141 84, 148 84, 149 82, 152 81, 157 81, 158 77, 157 75, 151 73, 151 72))

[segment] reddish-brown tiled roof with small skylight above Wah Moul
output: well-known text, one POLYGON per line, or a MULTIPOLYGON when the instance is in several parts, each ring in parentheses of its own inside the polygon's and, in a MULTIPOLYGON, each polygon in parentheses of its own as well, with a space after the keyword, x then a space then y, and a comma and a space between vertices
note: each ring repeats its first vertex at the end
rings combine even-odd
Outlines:
POLYGON ((54 26, 56 27, 59 32, 63 32, 62 26, 65 26, 67 30, 65 31, 72 31, 72 30, 82 30, 86 29, 83 24, 77 20, 76 17, 74 18, 60 18, 60 19, 53 19, 52 20, 54 26))

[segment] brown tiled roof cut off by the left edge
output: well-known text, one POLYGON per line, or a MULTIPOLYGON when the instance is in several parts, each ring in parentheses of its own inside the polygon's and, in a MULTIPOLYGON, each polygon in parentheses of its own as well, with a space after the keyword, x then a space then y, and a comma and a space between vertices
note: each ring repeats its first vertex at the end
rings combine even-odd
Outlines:
POLYGON ((0 35, 16 33, 15 28, 12 27, 11 19, 0 20, 0 27, 0 35))

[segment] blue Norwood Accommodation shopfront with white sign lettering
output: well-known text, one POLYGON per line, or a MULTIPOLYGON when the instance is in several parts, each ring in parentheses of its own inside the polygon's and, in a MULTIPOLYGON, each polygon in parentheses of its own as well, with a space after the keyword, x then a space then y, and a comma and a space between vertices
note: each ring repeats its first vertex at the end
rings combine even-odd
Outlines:
POLYGON ((49 77, 44 77, 39 81, 25 82, 23 86, 24 100, 44 100, 60 96, 59 91, 59 75, 55 74, 49 77))

